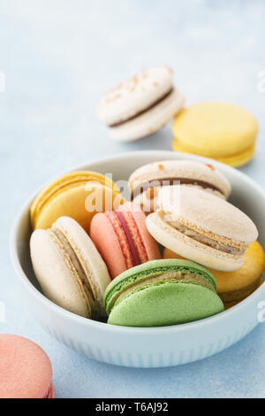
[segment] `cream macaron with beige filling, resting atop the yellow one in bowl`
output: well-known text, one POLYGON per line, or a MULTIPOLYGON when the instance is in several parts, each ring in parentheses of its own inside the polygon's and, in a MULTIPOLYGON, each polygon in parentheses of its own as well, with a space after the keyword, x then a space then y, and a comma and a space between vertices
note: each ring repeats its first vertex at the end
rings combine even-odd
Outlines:
POLYGON ((243 266, 246 248, 258 231, 239 208, 186 185, 163 187, 157 202, 147 227, 158 243, 215 270, 232 272, 243 266))

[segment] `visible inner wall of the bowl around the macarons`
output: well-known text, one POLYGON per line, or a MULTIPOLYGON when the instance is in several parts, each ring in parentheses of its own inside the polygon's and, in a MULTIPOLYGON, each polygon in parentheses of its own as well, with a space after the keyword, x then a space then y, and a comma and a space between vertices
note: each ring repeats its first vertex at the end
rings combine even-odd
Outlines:
MULTIPOLYGON (((259 230, 259 241, 265 246, 265 194, 262 189, 250 180, 245 174, 238 170, 225 166, 214 160, 201 158, 193 155, 179 154, 172 151, 138 151, 117 155, 112 158, 105 158, 96 162, 87 163, 87 165, 77 166, 72 170, 94 170, 99 173, 111 173, 114 181, 128 180, 133 170, 138 167, 154 162, 156 160, 169 159, 193 159, 211 163, 216 166, 227 179, 231 182, 232 193, 229 201, 238 206, 243 212, 254 220, 259 230)), ((34 276, 29 254, 29 238, 32 233, 29 220, 29 209, 34 196, 29 200, 25 207, 19 213, 18 220, 14 227, 13 254, 15 260, 19 262, 28 282, 40 290, 38 282, 34 276)))

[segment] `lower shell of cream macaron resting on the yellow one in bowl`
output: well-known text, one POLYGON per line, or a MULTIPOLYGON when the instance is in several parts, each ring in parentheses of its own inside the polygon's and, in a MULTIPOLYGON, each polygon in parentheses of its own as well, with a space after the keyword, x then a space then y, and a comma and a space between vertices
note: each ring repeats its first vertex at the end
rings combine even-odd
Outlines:
POLYGON ((147 227, 158 243, 176 252, 182 258, 189 258, 203 266, 228 272, 237 270, 243 265, 243 256, 235 258, 193 240, 162 221, 156 212, 148 215, 147 227))

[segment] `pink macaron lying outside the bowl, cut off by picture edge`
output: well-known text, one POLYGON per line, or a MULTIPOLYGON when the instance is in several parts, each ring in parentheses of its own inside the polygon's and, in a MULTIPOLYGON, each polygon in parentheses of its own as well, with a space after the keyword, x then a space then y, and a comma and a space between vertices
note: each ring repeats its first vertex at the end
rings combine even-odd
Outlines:
POLYGON ((19 335, 0 334, 0 398, 54 398, 47 354, 19 335))

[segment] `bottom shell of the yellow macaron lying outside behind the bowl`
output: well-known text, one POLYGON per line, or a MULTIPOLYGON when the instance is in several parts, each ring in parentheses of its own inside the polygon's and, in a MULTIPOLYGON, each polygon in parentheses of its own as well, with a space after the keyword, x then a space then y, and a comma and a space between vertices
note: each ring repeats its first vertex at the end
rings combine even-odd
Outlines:
MULTIPOLYGON (((178 139, 176 139, 176 137, 173 138, 172 149, 180 153, 193 153, 195 155, 202 155, 201 151, 194 151, 191 149, 187 149, 185 146, 182 146, 180 143, 178 143, 178 139)), ((214 158, 218 162, 224 163, 225 165, 229 165, 232 167, 240 167, 246 165, 254 157, 254 153, 255 144, 252 144, 246 150, 236 153, 235 155, 230 155, 223 158, 211 156, 211 158, 214 158)))

